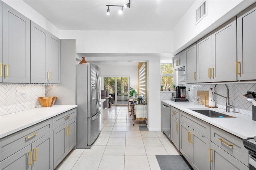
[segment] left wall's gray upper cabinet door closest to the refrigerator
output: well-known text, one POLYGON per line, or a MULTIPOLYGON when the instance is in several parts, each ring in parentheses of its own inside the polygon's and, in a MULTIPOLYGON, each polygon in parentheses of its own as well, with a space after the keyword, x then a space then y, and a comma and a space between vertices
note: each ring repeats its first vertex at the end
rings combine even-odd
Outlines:
POLYGON ((49 34, 47 44, 46 65, 49 71, 49 83, 60 84, 60 39, 49 34))

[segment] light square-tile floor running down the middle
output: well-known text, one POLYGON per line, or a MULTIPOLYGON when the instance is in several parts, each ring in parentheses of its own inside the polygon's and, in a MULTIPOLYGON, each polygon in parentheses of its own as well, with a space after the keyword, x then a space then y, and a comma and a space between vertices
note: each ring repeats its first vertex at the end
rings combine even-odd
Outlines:
POLYGON ((162 132, 140 131, 128 107, 103 109, 103 128, 90 149, 72 150, 57 170, 160 170, 156 154, 179 154, 162 132))

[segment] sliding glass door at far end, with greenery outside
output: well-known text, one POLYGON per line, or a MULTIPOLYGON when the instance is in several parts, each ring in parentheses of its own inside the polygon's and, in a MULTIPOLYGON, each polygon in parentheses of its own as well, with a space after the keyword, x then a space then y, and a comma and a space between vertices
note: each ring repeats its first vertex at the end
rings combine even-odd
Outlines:
POLYGON ((128 77, 104 77, 104 90, 113 98, 114 105, 127 106, 128 77))

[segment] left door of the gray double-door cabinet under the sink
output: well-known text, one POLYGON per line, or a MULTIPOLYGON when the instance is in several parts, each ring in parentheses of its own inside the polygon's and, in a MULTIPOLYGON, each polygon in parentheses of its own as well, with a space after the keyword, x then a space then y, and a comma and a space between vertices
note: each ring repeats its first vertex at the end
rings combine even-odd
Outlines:
POLYGON ((192 159, 192 145, 190 144, 190 127, 180 121, 180 152, 188 162, 192 159))

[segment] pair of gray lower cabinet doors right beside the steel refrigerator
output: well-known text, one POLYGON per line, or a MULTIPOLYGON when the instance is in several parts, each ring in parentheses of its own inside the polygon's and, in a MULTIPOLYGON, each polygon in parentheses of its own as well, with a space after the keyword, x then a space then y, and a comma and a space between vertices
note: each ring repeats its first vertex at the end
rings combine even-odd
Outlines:
POLYGON ((56 168, 68 152, 76 146, 76 117, 55 128, 53 138, 53 167, 56 168))

